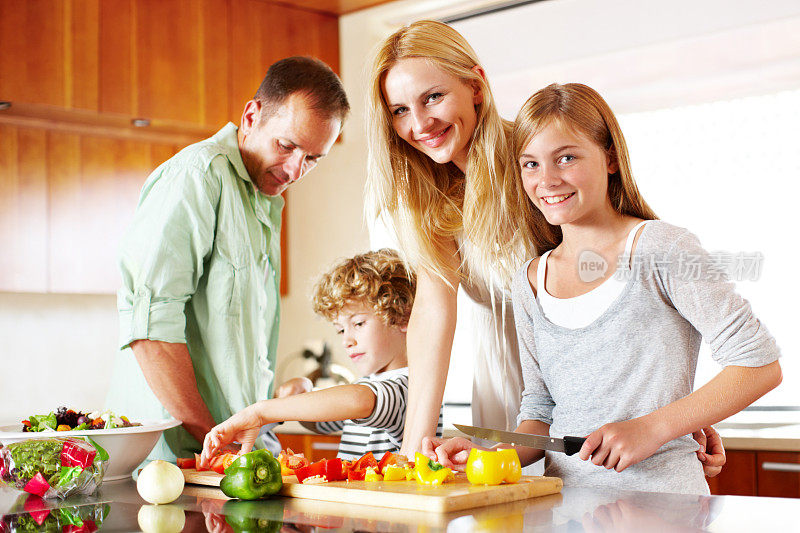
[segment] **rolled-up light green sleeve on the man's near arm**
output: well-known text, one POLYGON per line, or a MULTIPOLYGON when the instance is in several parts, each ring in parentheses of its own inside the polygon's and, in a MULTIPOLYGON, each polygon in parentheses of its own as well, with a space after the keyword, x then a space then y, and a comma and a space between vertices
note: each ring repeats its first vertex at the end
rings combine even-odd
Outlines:
POLYGON ((120 346, 186 342, 186 302, 211 253, 219 180, 210 168, 170 160, 145 183, 120 246, 120 346))

